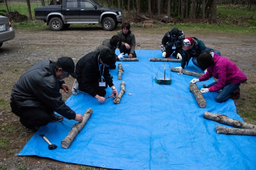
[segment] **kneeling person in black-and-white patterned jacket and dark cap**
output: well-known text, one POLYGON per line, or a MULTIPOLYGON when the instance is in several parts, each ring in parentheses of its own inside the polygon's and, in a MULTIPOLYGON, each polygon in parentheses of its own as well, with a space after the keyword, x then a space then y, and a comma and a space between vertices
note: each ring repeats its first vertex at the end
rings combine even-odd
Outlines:
POLYGON ((173 53, 173 56, 177 59, 181 59, 182 43, 185 38, 183 31, 178 28, 173 28, 168 31, 162 39, 161 51, 162 56, 169 58, 173 53), (174 52, 175 51, 175 52, 174 52))

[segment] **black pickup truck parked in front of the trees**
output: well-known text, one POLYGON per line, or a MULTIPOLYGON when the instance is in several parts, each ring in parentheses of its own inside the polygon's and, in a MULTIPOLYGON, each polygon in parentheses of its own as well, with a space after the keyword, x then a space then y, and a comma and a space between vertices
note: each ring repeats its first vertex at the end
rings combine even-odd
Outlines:
POLYGON ((123 19, 121 10, 104 8, 93 0, 63 0, 62 5, 36 7, 34 13, 53 31, 67 29, 71 23, 98 23, 103 30, 111 31, 123 19))

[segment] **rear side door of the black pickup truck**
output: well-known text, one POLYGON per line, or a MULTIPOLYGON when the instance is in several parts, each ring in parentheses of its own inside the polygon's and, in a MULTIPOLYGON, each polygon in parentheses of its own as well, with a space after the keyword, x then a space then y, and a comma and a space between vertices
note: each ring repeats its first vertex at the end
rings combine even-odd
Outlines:
POLYGON ((66 0, 64 17, 66 21, 79 21, 78 0, 66 0))

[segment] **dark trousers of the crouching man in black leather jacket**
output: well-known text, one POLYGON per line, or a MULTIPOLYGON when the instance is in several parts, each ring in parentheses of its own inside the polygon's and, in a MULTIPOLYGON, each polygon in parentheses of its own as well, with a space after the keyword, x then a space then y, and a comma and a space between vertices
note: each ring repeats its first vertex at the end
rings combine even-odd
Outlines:
POLYGON ((45 126, 50 121, 50 113, 54 110, 44 108, 18 108, 15 102, 10 102, 11 111, 20 117, 20 123, 25 127, 40 127, 45 126))

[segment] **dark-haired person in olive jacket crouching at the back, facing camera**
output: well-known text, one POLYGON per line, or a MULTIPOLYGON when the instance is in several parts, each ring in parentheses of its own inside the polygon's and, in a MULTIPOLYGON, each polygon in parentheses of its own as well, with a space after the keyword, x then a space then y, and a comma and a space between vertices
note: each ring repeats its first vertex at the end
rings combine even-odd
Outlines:
POLYGON ((135 53, 135 35, 130 30, 130 23, 123 23, 122 30, 117 32, 117 35, 122 40, 122 45, 119 47, 120 53, 128 54, 129 58, 136 58, 137 55, 135 53))

